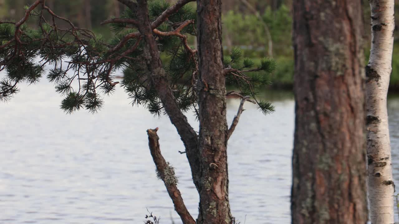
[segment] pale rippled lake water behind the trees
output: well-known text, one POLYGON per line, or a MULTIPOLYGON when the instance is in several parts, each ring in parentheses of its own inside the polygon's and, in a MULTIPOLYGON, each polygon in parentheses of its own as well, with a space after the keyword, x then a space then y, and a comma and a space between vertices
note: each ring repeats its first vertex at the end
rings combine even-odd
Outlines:
MULTIPOLYGON (((142 223, 146 208, 162 224, 181 223, 156 178, 146 130, 159 127, 161 151, 176 168, 179 188, 194 218, 198 194, 184 147, 166 117, 132 107, 121 88, 98 114, 59 109, 61 97, 45 81, 22 86, 0 104, 0 223, 142 223)), ((290 223, 294 100, 265 94, 276 112, 264 116, 245 104, 229 140, 230 202, 241 223, 290 223)), ((231 123, 239 100, 229 100, 231 123)), ((389 99, 394 174, 399 177, 399 98, 389 99)), ((198 130, 194 116, 188 114, 198 130)), ((399 182, 398 182, 399 183, 399 182)))

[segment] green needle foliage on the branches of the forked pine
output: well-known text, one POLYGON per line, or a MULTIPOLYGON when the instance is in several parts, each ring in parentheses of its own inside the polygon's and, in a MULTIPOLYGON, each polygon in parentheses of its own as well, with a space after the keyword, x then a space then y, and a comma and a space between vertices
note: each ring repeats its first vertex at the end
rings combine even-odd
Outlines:
MULTIPOLYGON (((156 20, 171 6, 164 0, 148 1, 150 21, 156 20)), ((42 13, 47 12, 43 10, 42 13)), ((17 32, 19 41, 15 39, 14 24, 0 24, 0 71, 6 73, 0 81, 0 100, 10 100, 18 92, 18 83, 36 83, 44 75, 54 84, 55 92, 65 97, 60 107, 66 113, 81 109, 98 112, 104 105, 101 95, 112 94, 118 86, 124 88, 132 105, 145 106, 154 116, 166 113, 148 79, 150 71, 146 65, 148 53, 144 40, 132 24, 109 24, 115 35, 106 40, 86 29, 60 29, 53 21, 42 20, 40 15, 41 12, 32 11, 30 20, 37 20, 38 28, 22 25, 17 32), (132 33, 137 35, 126 39, 132 33), (45 71, 45 66, 50 69, 45 71), (115 80, 115 73, 119 71, 123 74, 120 83, 115 80), (72 84, 75 86, 77 83, 78 88, 72 88, 72 84)), ((137 19, 137 16, 134 10, 126 8, 120 18, 137 19)), ((188 20, 193 22, 180 33, 195 38, 197 15, 190 5, 180 8, 157 29, 173 32, 188 20)), ((194 111, 198 116, 195 88, 197 55, 188 51, 182 37, 155 34, 154 37, 162 56, 164 72, 180 109, 194 111)), ((235 72, 226 75, 226 83, 239 89, 241 95, 255 100, 259 88, 270 84, 269 75, 277 66, 272 59, 263 59, 260 65, 256 65, 251 59, 244 58, 239 48, 233 48, 223 63, 226 69, 235 69, 235 72)), ((264 114, 274 111, 269 102, 260 101, 257 104, 264 114)))

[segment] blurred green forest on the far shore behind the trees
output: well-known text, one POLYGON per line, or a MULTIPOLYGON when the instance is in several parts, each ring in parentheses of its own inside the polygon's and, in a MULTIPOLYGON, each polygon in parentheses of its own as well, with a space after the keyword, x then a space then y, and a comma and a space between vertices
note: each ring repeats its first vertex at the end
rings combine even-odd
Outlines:
MULTIPOLYGON (((167 0, 174 2, 174 0, 167 0)), ((260 61, 274 57, 278 69, 272 77, 273 86, 291 88, 294 73, 292 47, 292 1, 293 0, 223 0, 223 44, 225 51, 240 47, 246 57, 260 61), (271 43, 270 43, 271 42, 271 43), (269 47, 271 45, 272 48, 269 47)), ((0 0, 0 19, 20 20, 24 6, 33 0, 0 0)), ((123 6, 116 0, 46 0, 47 6, 57 14, 70 19, 77 26, 92 29, 105 38, 112 35, 109 26, 101 26, 103 20, 119 17, 123 6)), ((195 7, 195 3, 192 4, 195 7)), ((399 10, 399 0, 395 0, 399 10)), ((365 64, 370 47, 370 9, 363 0, 365 23, 365 64)), ((304 18, 305 19, 305 18, 304 18)), ((307 18, 311 19, 311 18, 307 18)), ((399 16, 396 15, 396 24, 399 16)), ((32 24, 34 25, 34 24, 32 24)), ((61 24, 62 26, 62 24, 61 24)), ((396 29, 398 29, 398 25, 396 29)), ((331 28, 334 32, 334 28, 331 28)), ((192 45, 195 38, 191 38, 192 45)), ((399 90, 399 34, 395 32, 391 90, 399 90)))

